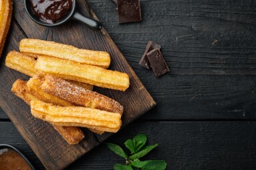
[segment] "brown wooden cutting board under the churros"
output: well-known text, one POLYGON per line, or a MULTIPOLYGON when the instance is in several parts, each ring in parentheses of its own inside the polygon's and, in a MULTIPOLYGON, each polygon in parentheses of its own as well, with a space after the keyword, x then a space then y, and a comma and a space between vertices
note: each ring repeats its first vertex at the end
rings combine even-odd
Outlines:
MULTIPOLYGON (((79 11, 83 11, 84 15, 90 15, 97 19, 86 1, 78 0, 78 4, 79 11)), ((109 69, 128 73, 130 87, 125 92, 95 89, 124 105, 122 127, 156 105, 105 29, 95 32, 77 21, 70 21, 61 27, 41 27, 29 19, 25 13, 23 1, 14 1, 11 28, 5 43, 5 51, 0 60, 0 106, 46 169, 67 167, 112 134, 96 135, 84 128, 85 139, 78 145, 68 145, 51 125, 31 116, 29 107, 11 93, 11 86, 16 79, 27 80, 29 77, 5 67, 7 53, 13 49, 19 51, 19 41, 26 37, 56 41, 84 49, 108 51, 112 57, 109 69)))

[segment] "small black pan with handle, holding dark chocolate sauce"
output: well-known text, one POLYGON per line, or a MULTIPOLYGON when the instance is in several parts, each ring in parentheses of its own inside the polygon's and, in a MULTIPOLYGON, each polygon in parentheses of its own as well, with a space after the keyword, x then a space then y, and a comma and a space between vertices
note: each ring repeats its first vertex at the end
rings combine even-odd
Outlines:
POLYGON ((102 29, 99 21, 78 13, 76 0, 24 0, 24 2, 29 17, 39 25, 55 27, 75 19, 95 31, 102 29))

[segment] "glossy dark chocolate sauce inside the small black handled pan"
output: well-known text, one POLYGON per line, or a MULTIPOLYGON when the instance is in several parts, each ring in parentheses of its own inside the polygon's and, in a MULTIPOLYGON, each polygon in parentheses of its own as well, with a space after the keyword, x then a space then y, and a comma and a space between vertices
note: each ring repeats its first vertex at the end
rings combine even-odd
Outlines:
POLYGON ((45 23, 55 23, 68 14, 72 0, 29 0, 31 9, 45 23))

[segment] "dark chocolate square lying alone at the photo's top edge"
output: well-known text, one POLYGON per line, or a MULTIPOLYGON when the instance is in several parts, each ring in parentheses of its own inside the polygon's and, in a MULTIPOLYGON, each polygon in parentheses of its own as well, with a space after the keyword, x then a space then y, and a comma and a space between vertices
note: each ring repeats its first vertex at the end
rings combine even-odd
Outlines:
POLYGON ((140 0, 117 0, 118 23, 141 21, 140 0))

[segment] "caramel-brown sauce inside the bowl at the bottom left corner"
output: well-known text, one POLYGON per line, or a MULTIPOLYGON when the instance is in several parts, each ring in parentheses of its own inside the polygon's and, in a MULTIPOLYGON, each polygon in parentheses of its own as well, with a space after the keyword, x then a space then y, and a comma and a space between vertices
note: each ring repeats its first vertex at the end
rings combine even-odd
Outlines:
POLYGON ((0 169, 5 170, 31 170, 27 161, 13 149, 0 149, 0 169))

